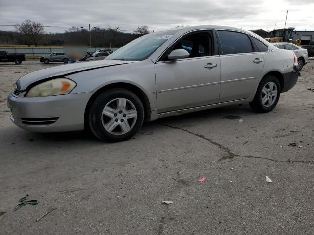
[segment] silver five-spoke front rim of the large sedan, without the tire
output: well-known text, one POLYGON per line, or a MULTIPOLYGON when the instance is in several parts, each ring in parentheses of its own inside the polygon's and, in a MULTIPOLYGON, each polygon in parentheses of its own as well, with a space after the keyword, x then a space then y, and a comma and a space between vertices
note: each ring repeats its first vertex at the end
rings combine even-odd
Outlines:
POLYGON ((107 132, 113 135, 128 133, 135 125, 137 110, 126 98, 109 101, 102 112, 102 124, 107 132))

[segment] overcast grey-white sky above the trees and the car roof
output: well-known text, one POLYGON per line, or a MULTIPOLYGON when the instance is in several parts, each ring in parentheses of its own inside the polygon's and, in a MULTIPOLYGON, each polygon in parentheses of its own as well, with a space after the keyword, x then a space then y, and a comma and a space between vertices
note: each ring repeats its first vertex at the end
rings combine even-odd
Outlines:
MULTIPOLYGON (((147 25, 160 31, 178 25, 227 25, 272 30, 286 27, 314 30, 314 0, 0 0, 0 24, 26 19, 44 26, 121 26, 135 30, 147 25)), ((46 32, 64 32, 48 28, 46 32)), ((12 31, 14 27, 0 26, 12 31)))

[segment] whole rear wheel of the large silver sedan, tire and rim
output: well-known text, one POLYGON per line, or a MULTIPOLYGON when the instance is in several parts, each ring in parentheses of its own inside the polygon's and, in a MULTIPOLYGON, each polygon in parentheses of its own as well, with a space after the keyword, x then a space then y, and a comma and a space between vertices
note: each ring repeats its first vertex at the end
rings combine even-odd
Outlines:
POLYGON ((258 113, 266 113, 275 108, 280 97, 280 84, 276 77, 267 76, 260 82, 251 108, 258 113))

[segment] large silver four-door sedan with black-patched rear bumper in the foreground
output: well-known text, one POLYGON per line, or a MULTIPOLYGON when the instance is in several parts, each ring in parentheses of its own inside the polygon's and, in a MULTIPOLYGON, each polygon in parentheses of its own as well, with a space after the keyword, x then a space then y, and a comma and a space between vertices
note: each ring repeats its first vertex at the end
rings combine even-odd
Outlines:
POLYGON ((193 26, 147 34, 105 60, 26 74, 8 106, 29 131, 89 128, 124 141, 144 120, 245 102, 269 112, 297 80, 292 51, 242 29, 193 26))

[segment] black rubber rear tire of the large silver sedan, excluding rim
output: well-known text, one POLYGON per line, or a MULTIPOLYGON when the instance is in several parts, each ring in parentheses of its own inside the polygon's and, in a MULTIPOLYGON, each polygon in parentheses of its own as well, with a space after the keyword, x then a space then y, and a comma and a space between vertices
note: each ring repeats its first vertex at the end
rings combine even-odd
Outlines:
POLYGON ((249 104, 255 112, 267 113, 267 112, 273 110, 275 108, 275 106, 277 105, 279 97, 280 97, 280 91, 281 91, 280 83, 276 77, 274 77, 274 76, 264 77, 262 79, 262 81, 260 82, 258 88, 257 88, 257 91, 256 91, 256 94, 254 96, 253 101, 250 102, 249 104), (263 90, 264 86, 269 82, 273 82, 276 84, 277 96, 276 96, 275 102, 272 105, 267 107, 262 103, 262 90, 263 90))

